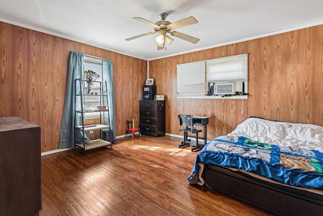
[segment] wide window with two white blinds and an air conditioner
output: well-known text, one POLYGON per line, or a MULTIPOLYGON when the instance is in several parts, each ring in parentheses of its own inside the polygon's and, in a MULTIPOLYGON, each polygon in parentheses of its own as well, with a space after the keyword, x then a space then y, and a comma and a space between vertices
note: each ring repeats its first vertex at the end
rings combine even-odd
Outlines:
POLYGON ((177 97, 248 95, 248 54, 177 65, 177 97))

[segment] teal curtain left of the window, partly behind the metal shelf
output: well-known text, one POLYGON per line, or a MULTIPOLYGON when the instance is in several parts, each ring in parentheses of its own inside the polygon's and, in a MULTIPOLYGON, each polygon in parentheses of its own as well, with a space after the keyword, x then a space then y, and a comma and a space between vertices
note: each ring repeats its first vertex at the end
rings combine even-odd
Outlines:
MULTIPOLYGON (((84 54, 71 51, 68 65, 68 77, 62 117, 60 149, 74 148, 74 118, 75 118, 75 79, 83 78, 84 54)), ((81 121, 75 119, 76 121, 81 121)))

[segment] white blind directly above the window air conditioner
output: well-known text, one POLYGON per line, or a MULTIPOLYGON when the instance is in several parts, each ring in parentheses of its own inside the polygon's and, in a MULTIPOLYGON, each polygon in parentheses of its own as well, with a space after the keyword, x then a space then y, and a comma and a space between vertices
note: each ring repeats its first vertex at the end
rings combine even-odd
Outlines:
POLYGON ((248 54, 228 56, 206 61, 206 81, 247 81, 248 54))

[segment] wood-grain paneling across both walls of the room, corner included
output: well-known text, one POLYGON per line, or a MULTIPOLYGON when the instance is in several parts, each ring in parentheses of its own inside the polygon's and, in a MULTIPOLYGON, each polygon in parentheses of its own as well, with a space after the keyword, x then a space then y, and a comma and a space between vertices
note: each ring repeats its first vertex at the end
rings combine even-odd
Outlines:
MULTIPOLYGON (((58 149, 70 51, 111 59, 116 135, 139 120, 147 61, 0 22, 0 116, 41 126, 41 151, 58 149)), ((180 113, 211 116, 207 139, 228 134, 249 116, 323 125, 323 26, 149 61, 157 94, 165 95, 166 133, 180 113), (176 65, 248 53, 249 98, 177 99, 176 65)), ((138 123, 137 123, 138 124, 138 123)))

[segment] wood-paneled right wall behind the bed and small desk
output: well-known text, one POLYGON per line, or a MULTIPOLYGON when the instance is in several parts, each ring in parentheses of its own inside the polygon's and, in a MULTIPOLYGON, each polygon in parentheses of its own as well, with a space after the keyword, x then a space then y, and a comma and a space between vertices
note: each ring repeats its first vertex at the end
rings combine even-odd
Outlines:
POLYGON ((207 139, 249 116, 323 125, 323 25, 149 61, 149 77, 167 101, 166 133, 181 135, 180 113, 211 116, 207 139), (249 98, 177 99, 176 65, 248 53, 249 98))

